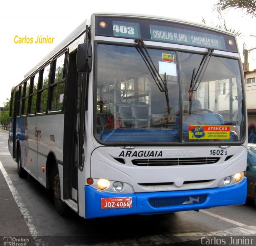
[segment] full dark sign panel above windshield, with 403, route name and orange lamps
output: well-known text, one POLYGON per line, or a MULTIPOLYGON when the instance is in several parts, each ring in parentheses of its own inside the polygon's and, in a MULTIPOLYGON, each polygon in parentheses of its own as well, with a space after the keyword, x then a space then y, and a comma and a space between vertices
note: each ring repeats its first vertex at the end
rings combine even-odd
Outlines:
MULTIPOLYGON (((97 16, 96 35, 118 38, 142 38, 187 46, 212 48, 238 53, 232 34, 203 26, 140 18, 97 16)), ((168 62, 172 62, 168 60, 168 62)))

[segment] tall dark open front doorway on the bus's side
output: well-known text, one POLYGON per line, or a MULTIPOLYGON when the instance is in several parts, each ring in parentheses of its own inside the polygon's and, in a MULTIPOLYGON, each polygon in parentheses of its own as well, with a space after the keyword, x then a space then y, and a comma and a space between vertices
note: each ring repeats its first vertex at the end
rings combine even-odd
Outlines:
POLYGON ((63 198, 77 201, 78 194, 78 120, 79 76, 76 52, 69 54, 64 115, 63 198))

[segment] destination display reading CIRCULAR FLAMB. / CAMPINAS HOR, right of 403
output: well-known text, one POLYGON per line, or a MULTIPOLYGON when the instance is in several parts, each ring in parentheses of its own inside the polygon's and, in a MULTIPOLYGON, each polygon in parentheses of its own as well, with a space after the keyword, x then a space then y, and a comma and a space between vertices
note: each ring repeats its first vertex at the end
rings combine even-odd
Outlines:
POLYGON ((207 34, 205 32, 196 32, 186 29, 178 29, 167 26, 150 25, 150 34, 152 40, 161 40, 177 44, 187 44, 193 46, 203 46, 207 48, 226 49, 223 37, 207 34))

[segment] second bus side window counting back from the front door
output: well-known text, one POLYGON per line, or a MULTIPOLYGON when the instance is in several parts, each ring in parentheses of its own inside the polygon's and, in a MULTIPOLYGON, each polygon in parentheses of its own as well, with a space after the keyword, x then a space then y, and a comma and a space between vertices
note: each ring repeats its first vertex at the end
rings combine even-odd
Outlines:
POLYGON ((51 64, 48 64, 46 67, 41 69, 40 72, 40 82, 38 89, 39 105, 38 112, 45 112, 47 109, 47 100, 48 100, 48 87, 50 81, 50 68, 51 64))

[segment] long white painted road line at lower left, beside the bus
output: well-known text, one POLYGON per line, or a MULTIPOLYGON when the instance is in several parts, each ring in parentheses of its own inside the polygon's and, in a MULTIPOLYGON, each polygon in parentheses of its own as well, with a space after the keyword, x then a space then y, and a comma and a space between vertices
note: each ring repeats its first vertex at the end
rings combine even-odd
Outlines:
POLYGON ((34 237, 35 242, 38 243, 38 245, 42 245, 42 240, 36 238, 36 236, 38 236, 38 232, 37 232, 36 226, 34 224, 34 219, 30 215, 30 212, 28 211, 28 209, 23 204, 22 198, 18 194, 18 191, 16 190, 14 184, 12 183, 8 173, 4 169, 4 166, 2 165, 1 161, 0 161, 0 170, 2 171, 4 179, 6 180, 6 183, 8 184, 9 189, 12 192, 12 196, 13 196, 15 202, 17 203, 18 208, 20 209, 20 212, 28 226, 28 230, 30 231, 31 235, 34 237))

